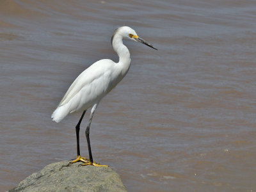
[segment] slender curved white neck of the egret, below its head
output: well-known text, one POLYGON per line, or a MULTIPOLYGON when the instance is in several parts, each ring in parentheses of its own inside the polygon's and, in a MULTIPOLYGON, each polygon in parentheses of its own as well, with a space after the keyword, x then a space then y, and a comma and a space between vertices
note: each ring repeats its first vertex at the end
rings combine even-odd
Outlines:
POLYGON ((120 67, 122 67, 122 76, 125 76, 130 68, 131 58, 129 50, 123 44, 123 38, 121 35, 116 34, 113 36, 112 46, 114 51, 119 56, 118 65, 121 65, 120 67))

